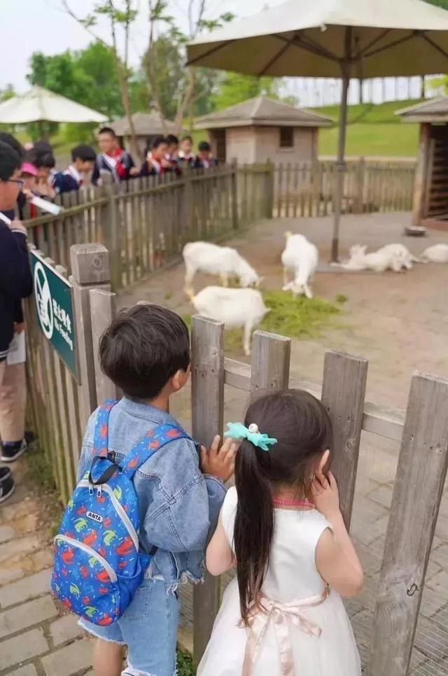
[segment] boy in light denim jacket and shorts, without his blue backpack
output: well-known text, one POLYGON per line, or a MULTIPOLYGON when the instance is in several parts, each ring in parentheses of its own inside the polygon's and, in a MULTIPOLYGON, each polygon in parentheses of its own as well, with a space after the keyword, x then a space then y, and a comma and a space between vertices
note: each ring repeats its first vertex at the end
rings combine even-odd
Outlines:
MULTIPOLYGON (((124 311, 104 333, 99 355, 104 373, 125 396, 111 410, 109 451, 120 462, 148 431, 172 423, 169 397, 190 374, 188 328, 174 312, 156 305, 124 311)), ((96 414, 87 424, 78 479, 90 468, 96 414)), ((143 584, 116 623, 80 626, 97 636, 95 676, 120 676, 121 645, 128 647, 126 676, 173 676, 179 624, 178 586, 199 582, 207 536, 218 519, 224 481, 233 471, 235 447, 216 437, 200 458, 190 439, 174 439, 134 475, 139 498, 141 550, 158 547, 143 584)))

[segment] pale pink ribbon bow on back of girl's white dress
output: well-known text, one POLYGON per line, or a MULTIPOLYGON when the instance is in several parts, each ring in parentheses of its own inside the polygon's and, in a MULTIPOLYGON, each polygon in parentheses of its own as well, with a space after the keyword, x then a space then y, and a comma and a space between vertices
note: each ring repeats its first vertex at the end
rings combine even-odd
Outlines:
POLYGON ((293 624, 310 636, 319 638, 322 633, 321 628, 304 614, 304 610, 321 605, 329 593, 327 586, 323 593, 318 596, 310 596, 294 603, 279 603, 263 597, 261 603, 264 611, 258 610, 253 605, 250 609, 253 619, 249 627, 242 676, 252 676, 255 660, 271 619, 274 622, 276 638, 279 643, 281 676, 294 676, 293 645, 288 625, 293 624))

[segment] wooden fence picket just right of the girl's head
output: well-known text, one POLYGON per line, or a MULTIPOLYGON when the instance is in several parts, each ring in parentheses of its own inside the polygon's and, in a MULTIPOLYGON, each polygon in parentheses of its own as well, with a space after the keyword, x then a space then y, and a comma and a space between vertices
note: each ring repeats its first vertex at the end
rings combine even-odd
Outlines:
POLYGON ((363 428, 368 361, 340 352, 325 353, 322 403, 333 428, 332 472, 341 496, 341 512, 350 527, 359 443, 363 428))

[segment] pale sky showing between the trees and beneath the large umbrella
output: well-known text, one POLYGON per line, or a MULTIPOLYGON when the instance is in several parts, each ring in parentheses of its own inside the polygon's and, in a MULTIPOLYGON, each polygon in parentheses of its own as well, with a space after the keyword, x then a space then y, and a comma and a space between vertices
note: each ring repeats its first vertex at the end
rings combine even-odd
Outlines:
MULTIPOLYGON (((148 44, 148 20, 145 8, 148 0, 136 0, 140 13, 132 30, 130 49, 131 65, 137 66, 148 44)), ((186 8, 188 0, 168 0, 169 11, 176 16, 179 25, 187 30, 186 8)), ((198 0, 196 0, 198 1, 198 0)), ((267 6, 274 6, 283 0, 207 0, 207 18, 216 18, 223 12, 237 16, 257 13, 267 6), (244 10, 241 8, 244 6, 244 10)), ((73 10, 83 17, 99 0, 69 0, 73 10)), ((117 0, 119 5, 120 0, 117 0)), ((0 89, 11 83, 16 91, 25 92, 29 87, 27 72, 29 59, 35 51, 57 54, 66 49, 80 50, 92 41, 87 31, 66 14, 62 0, 0 0, 0 89)), ((106 41, 110 35, 106 22, 95 27, 97 34, 106 41)), ((365 83, 365 100, 380 103, 382 100, 419 97, 419 78, 388 78, 365 83)), ((285 93, 293 95, 302 106, 323 106, 339 101, 340 82, 337 80, 311 80, 288 78, 285 93)), ((430 92, 428 92, 429 94, 430 92)), ((431 92, 432 93, 432 92, 431 92)), ((434 92, 435 95, 435 92, 434 92)), ((349 90, 349 102, 359 100, 358 82, 353 80, 349 90)))

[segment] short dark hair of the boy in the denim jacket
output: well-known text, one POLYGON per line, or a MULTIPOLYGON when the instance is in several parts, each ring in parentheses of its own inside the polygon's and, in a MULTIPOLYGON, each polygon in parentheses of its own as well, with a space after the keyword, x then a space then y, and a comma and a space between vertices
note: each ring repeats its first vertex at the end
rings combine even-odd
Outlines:
POLYGON ((186 323, 159 305, 120 312, 99 341, 102 371, 134 400, 155 399, 174 374, 190 365, 186 323))

